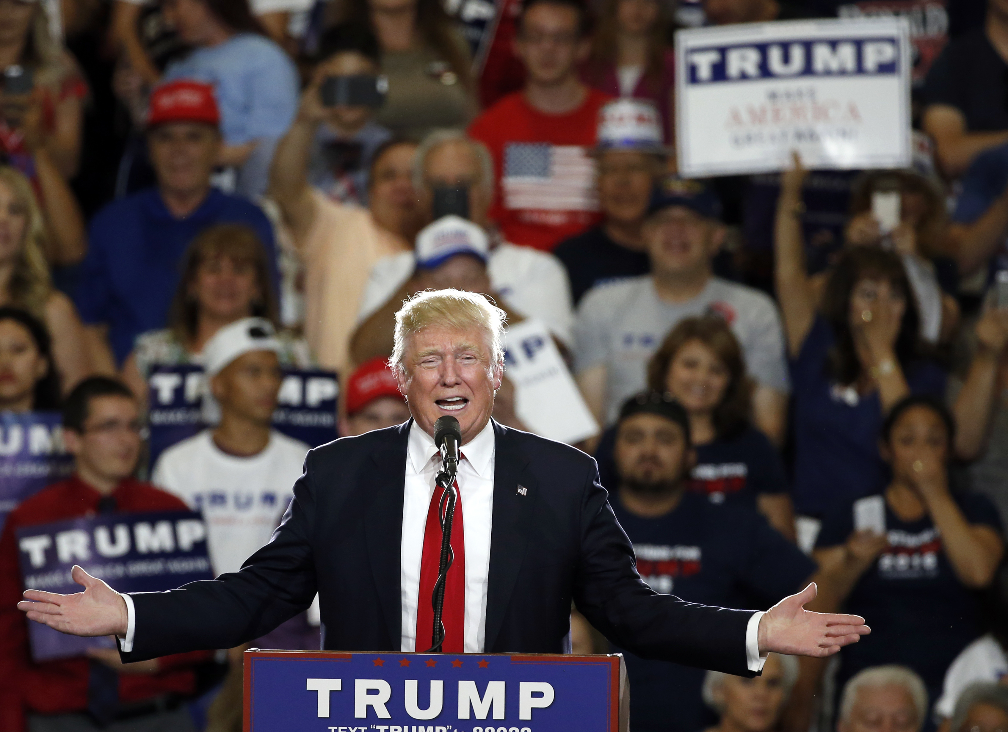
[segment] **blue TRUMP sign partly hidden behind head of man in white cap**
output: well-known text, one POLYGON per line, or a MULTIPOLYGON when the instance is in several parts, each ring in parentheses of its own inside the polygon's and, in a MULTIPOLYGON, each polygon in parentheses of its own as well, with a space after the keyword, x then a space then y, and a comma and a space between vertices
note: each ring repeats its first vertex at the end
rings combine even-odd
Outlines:
MULTIPOLYGON (((150 465, 166 448, 213 423, 201 366, 156 366, 147 378, 150 465)), ((332 371, 284 369, 273 426, 308 447, 336 440, 340 384, 332 371)))

